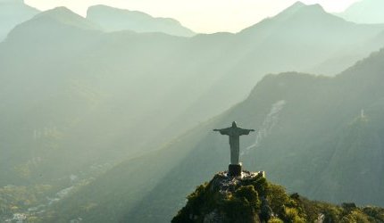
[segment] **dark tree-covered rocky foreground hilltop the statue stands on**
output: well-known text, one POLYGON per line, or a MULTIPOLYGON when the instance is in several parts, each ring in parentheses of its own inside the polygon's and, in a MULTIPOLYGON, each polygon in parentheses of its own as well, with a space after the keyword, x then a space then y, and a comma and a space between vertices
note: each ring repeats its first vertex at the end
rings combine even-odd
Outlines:
POLYGON ((384 222, 384 209, 288 195, 282 186, 269 183, 263 171, 243 171, 241 177, 220 172, 188 195, 186 206, 171 222, 384 222))

